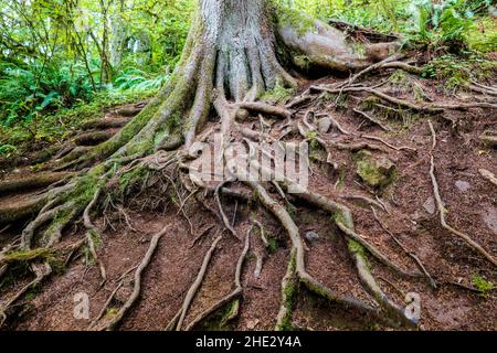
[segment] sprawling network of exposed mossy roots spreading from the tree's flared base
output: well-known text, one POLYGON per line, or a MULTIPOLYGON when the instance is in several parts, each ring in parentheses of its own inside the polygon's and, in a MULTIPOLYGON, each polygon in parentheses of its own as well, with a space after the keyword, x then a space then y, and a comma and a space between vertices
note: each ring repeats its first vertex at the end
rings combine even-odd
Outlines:
MULTIPOLYGON (((187 214, 187 202, 192 200, 197 200, 207 210, 212 212, 234 236, 236 236, 235 217, 239 201, 246 202, 251 205, 258 202, 275 216, 282 227, 286 231, 289 243, 292 244, 287 270, 282 280, 282 301, 275 327, 277 330, 293 329, 293 311, 295 309, 299 286, 306 287, 309 291, 326 300, 359 311, 360 313, 374 317, 378 320, 388 321, 389 324, 416 328, 416 322, 411 321, 405 315, 403 308, 393 302, 382 291, 371 272, 367 258, 372 256, 396 275, 408 278, 427 278, 433 287, 436 286, 436 282, 417 256, 405 248, 403 244, 381 223, 373 206, 384 212, 389 212, 389 210, 380 199, 377 197, 377 200, 372 200, 360 195, 345 195, 343 197, 359 200, 370 205, 373 216, 382 229, 387 232, 395 244, 398 244, 399 247, 415 261, 422 272, 403 269, 391 261, 380 252, 380 249, 370 244, 367 240, 367 237, 361 236, 356 232, 352 214, 346 205, 310 190, 303 190, 293 180, 284 178, 283 175, 273 175, 276 176, 277 181, 275 181, 275 178, 269 178, 283 201, 288 202, 289 196, 287 196, 286 193, 288 192, 288 189, 292 188, 293 190, 298 191, 297 193, 294 193, 293 196, 304 200, 332 215, 334 223, 340 231, 339 234, 343 236, 343 239, 347 243, 347 252, 355 261, 358 276, 364 289, 380 306, 380 308, 378 308, 356 298, 338 295, 307 271, 305 264, 305 244, 300 237, 299 228, 283 203, 281 204, 268 193, 266 184, 250 181, 248 178, 246 178, 247 175, 243 174, 242 170, 231 171, 235 178, 221 182, 215 188, 205 185, 201 180, 194 180, 191 174, 190 179, 188 179, 184 171, 188 171, 190 169, 189 163, 195 161, 201 154, 201 151, 192 151, 192 147, 195 142, 205 142, 210 140, 213 132, 220 130, 222 135, 221 158, 230 158, 224 154, 226 152, 225 148, 234 141, 244 141, 251 148, 250 158, 253 158, 258 153, 267 157, 271 153, 263 148, 257 150, 255 143, 252 143, 252 141, 278 142, 279 146, 287 147, 292 142, 287 142, 286 140, 283 141, 283 138, 293 138, 294 136, 289 136, 289 133, 296 131, 297 138, 298 133, 300 133, 306 141, 317 141, 328 153, 326 163, 330 164, 335 170, 338 170, 338 164, 334 163, 330 158, 334 149, 352 152, 364 148, 384 152, 391 152, 390 150, 415 152, 416 149, 408 146, 394 146, 381 137, 348 131, 337 119, 328 114, 315 114, 314 107, 307 107, 304 118, 295 121, 297 120, 295 117, 300 117, 298 111, 302 111, 302 109, 299 109, 300 107, 322 98, 327 93, 338 94, 338 96, 345 93, 364 93, 367 95, 373 95, 394 106, 430 114, 438 114, 447 109, 494 109, 497 106, 493 103, 485 101, 458 105, 441 105, 434 103, 416 104, 408 99, 396 98, 379 89, 378 87, 385 84, 385 82, 373 87, 363 87, 360 84, 357 84, 357 82, 373 71, 400 68, 409 73, 420 74, 422 68, 412 66, 406 62, 400 62, 402 55, 384 58, 378 57, 378 55, 374 56, 371 52, 378 49, 394 49, 399 43, 367 44, 364 45, 366 53, 371 55, 368 55, 367 57, 358 55, 346 45, 343 35, 337 34, 335 30, 319 21, 315 23, 315 31, 310 30, 304 35, 298 34, 298 31, 296 31, 295 28, 292 28, 290 24, 278 22, 278 31, 282 36, 281 40, 286 44, 290 54, 302 54, 310 61, 310 64, 320 67, 331 67, 341 71, 359 68, 361 71, 338 85, 310 86, 299 97, 294 98, 284 107, 257 101, 265 92, 278 87, 279 85, 284 87, 295 87, 296 81, 286 73, 277 62, 274 50, 274 33, 272 33, 271 30, 273 23, 269 23, 271 21, 268 18, 265 18, 265 10, 262 7, 263 2, 254 2, 257 3, 257 6, 254 4, 254 12, 247 11, 247 9, 243 7, 239 8, 240 4, 236 1, 229 2, 232 7, 236 7, 234 9, 240 11, 229 11, 226 9, 230 7, 226 7, 226 9, 221 7, 221 3, 224 2, 225 1, 212 1, 212 3, 215 3, 213 6, 219 7, 215 8, 214 11, 219 18, 210 18, 213 13, 208 13, 205 14, 207 17, 203 17, 201 13, 202 9, 199 9, 194 20, 195 25, 192 26, 192 31, 189 34, 178 69, 171 78, 171 83, 156 99, 150 101, 142 110, 141 107, 134 107, 131 109, 120 109, 116 111, 120 118, 104 118, 86 124, 84 126, 86 132, 76 136, 70 145, 64 146, 63 151, 57 154, 55 163, 50 164, 54 170, 72 169, 81 171, 80 173, 74 175, 68 173, 46 174, 52 178, 50 182, 47 180, 40 181, 33 179, 31 181, 24 180, 0 183, 0 192, 17 191, 24 186, 41 188, 51 185, 49 190, 38 194, 35 199, 30 200, 25 204, 10 208, 0 208, 0 224, 9 224, 15 222, 20 217, 38 214, 38 216, 23 229, 20 245, 15 245, 17 249, 23 252, 18 255, 24 255, 24 257, 21 259, 12 258, 12 254, 9 252, 0 254, 0 276, 1 271, 6 271, 7 266, 14 261, 23 260, 34 263, 34 260, 39 261, 40 259, 45 259, 46 254, 49 253, 44 252, 52 252, 55 244, 61 239, 64 227, 73 224, 82 216, 86 228, 86 237, 80 239, 76 245, 81 246, 85 242, 88 244, 91 255, 97 263, 102 279, 105 281, 106 270, 97 255, 98 231, 91 220, 92 210, 99 206, 101 199, 112 200, 108 194, 106 194, 105 197, 101 197, 102 194, 107 193, 110 188, 114 188, 114 191, 119 190, 120 194, 123 194, 123 199, 129 195, 133 189, 131 186, 136 186, 138 183, 141 188, 140 190, 150 188, 148 178, 152 174, 152 179, 158 178, 159 175, 160 181, 163 182, 163 188, 158 188, 157 190, 166 192, 169 186, 173 189, 175 195, 172 195, 171 201, 177 204, 178 214, 182 214, 189 223, 192 235, 195 234, 194 226, 187 214), (207 23, 204 23, 205 21, 207 23), (244 29, 239 25, 240 23, 245 23, 251 28, 248 30, 244 29), (215 26, 215 30, 212 32, 209 30, 211 25, 215 26), (334 40, 338 42, 337 46, 332 45, 334 40), (195 42, 199 42, 200 44, 195 44, 195 42), (322 45, 317 45, 316 43, 321 43, 322 45), (380 45, 376 46, 376 44, 380 45), (377 60, 380 60, 380 62, 372 64, 372 62, 377 60), (318 92, 318 94, 311 94, 313 92, 318 92), (211 106, 214 109, 211 109, 211 106), (220 121, 213 127, 211 126, 209 129, 205 129, 211 110, 218 113, 220 121), (129 119, 129 122, 126 124, 127 118, 123 117, 133 116, 135 116, 135 118, 129 119), (272 125, 265 121, 265 117, 267 116, 285 120, 272 125), (330 136, 320 136, 314 124, 316 122, 316 118, 322 116, 328 116, 334 129, 338 130, 341 135, 347 136, 347 138, 343 140, 328 140, 330 136), (261 130, 254 129, 257 125, 256 119, 254 120, 255 122, 253 122, 252 129, 243 126, 244 122, 248 122, 252 118, 258 118, 261 130), (126 126, 124 126, 125 124, 126 126), (124 128, 115 135, 112 131, 102 131, 102 129, 118 129, 121 126, 124 126, 124 128), (285 127, 286 129, 284 129, 285 127), (273 130, 273 128, 275 129, 273 130), (95 129, 95 131, 88 131, 91 129, 95 129), (281 129, 277 131, 281 136, 279 140, 273 137, 276 129, 281 129), (243 137, 242 139, 240 138, 241 136, 243 137), (359 139, 361 140, 359 141, 359 139), (369 143, 366 140, 378 141, 381 145, 369 143), (97 146, 88 148, 82 146, 75 147, 76 145, 97 146), (169 170, 172 170, 173 173, 170 174, 169 170), (56 175, 56 178, 54 175, 56 175), (71 179, 63 186, 53 184, 53 182, 61 181, 66 176, 71 176, 71 179), (166 179, 168 180, 167 182, 165 181, 166 179), (253 194, 256 195, 256 200, 252 197, 252 194, 232 190, 228 186, 228 183, 236 180, 247 185, 253 194), (204 192, 202 193, 201 191, 204 192), (232 220, 230 220, 224 212, 221 194, 236 201, 232 220), (209 202, 209 195, 214 196, 212 197, 213 202, 209 202), (211 206, 214 203, 216 203, 219 212, 214 210, 215 206, 211 206), (38 237, 39 233, 43 233, 41 239, 38 237), (40 247, 39 245, 42 245, 43 247, 40 247), (33 247, 34 249, 32 249, 33 247)), ((477 84, 474 84, 474 86, 482 92, 485 90, 485 93, 488 93, 489 95, 495 90, 491 87, 484 87, 477 84)), ((400 111, 401 109, 398 110, 400 111)), ((371 117, 369 114, 358 110, 357 108, 355 108, 353 111, 380 127, 382 130, 391 131, 387 125, 374 117, 371 117)), ((211 122, 212 120, 209 121, 209 124, 211 122)), ((467 235, 450 227, 445 223, 446 210, 443 207, 443 202, 434 175, 434 158, 432 152, 436 147, 436 136, 432 125, 431 129, 433 133, 431 178, 438 212, 441 214, 441 223, 444 228, 465 239, 473 248, 496 265, 497 263, 491 255, 486 253, 467 235)), ((302 158, 303 156, 299 151, 298 153, 302 158)), ((272 158, 271 156, 268 157, 272 158)), ((255 164, 254 167, 267 174, 267 171, 264 171, 261 165, 255 164)), ((480 174, 496 184, 495 175, 490 172, 480 171, 480 174)), ((166 196, 158 196, 158 199, 161 200, 163 197, 166 196)), ((128 220, 125 208, 120 205, 115 206, 115 208, 124 215, 125 222, 133 229, 131 222, 128 220)), ((241 279, 243 264, 251 247, 251 232, 253 231, 254 225, 261 231, 261 239, 265 248, 268 247, 264 227, 260 222, 253 221, 253 224, 246 234, 244 247, 236 265, 233 291, 222 297, 190 322, 186 322, 191 304, 202 286, 214 250, 222 239, 222 236, 218 236, 216 234, 215 239, 203 258, 195 280, 186 293, 181 308, 169 322, 167 327, 168 330, 181 330, 183 328, 186 330, 194 329, 202 321, 208 320, 209 317, 229 303, 235 304, 236 309, 239 308, 243 292, 241 279)), ((137 267, 125 272, 121 278, 117 280, 117 287, 106 300, 101 312, 93 321, 91 329, 114 330, 119 325, 124 317, 129 312, 140 296, 142 272, 149 266, 159 240, 167 229, 168 227, 165 227, 161 232, 154 235, 141 263, 137 267), (116 315, 104 319, 117 291, 123 286, 123 278, 134 270, 133 293, 128 297, 127 301, 121 306, 116 315)), ((195 245, 210 229, 211 227, 208 227, 201 232, 200 235, 197 235, 191 246, 195 245)), ((261 254, 256 254, 256 256, 257 261, 254 276, 257 278, 261 275, 264 258, 261 254)), ((45 276, 40 277, 36 274, 35 281, 41 281, 45 276)), ((33 284, 34 282, 31 282, 30 285, 33 284)), ((28 289, 23 290, 25 292, 28 289)), ((23 292, 17 295, 14 301, 22 295, 23 292)), ((8 307, 11 304, 12 302, 9 302, 8 307)), ((231 318, 236 315, 236 313, 237 310, 233 312, 231 318)))

